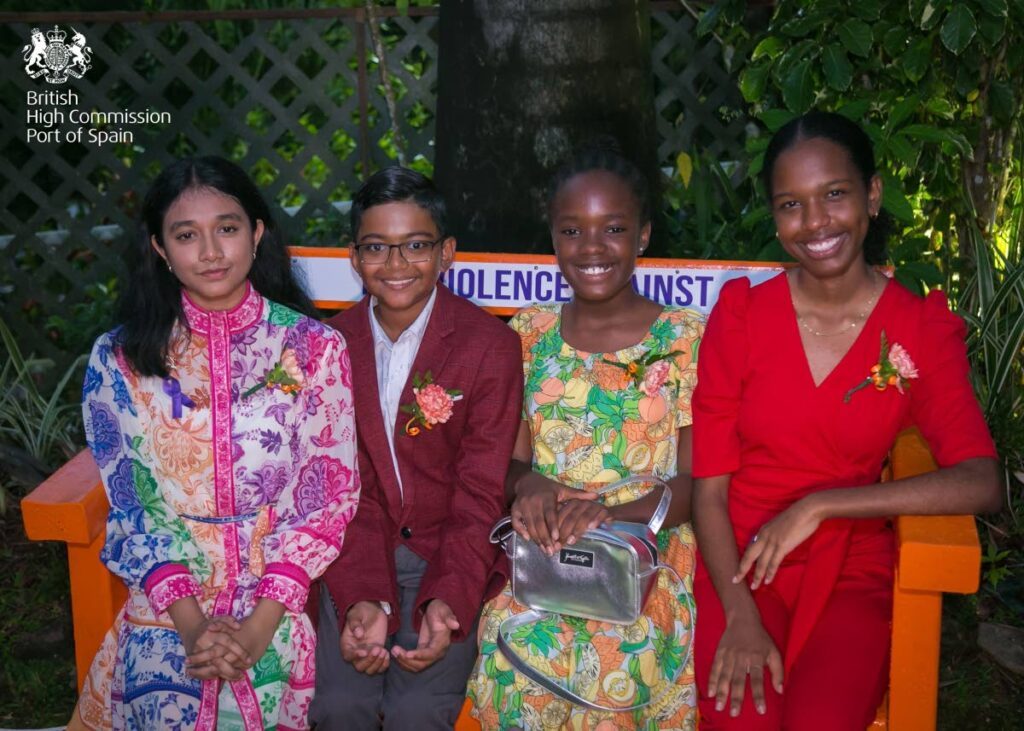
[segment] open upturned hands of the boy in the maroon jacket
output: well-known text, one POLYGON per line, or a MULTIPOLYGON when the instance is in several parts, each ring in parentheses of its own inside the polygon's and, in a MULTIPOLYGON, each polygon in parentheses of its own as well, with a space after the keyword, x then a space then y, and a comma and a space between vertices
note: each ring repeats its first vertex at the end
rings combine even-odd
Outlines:
POLYGON ((341 656, 360 673, 377 675, 391 664, 411 673, 419 673, 439 660, 452 644, 452 633, 459 629, 459 620, 452 608, 440 599, 434 599, 423 612, 420 637, 412 650, 395 645, 388 652, 387 614, 377 602, 356 602, 345 615, 341 631, 341 656))

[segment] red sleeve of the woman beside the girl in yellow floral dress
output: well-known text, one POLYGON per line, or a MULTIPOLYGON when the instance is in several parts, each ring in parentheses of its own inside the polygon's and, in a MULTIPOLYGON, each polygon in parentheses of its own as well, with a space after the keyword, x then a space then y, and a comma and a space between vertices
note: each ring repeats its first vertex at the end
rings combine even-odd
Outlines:
POLYGON ((746 315, 751 283, 727 282, 712 310, 697 353, 693 393, 693 476, 713 477, 739 469, 736 421, 746 373, 746 315))

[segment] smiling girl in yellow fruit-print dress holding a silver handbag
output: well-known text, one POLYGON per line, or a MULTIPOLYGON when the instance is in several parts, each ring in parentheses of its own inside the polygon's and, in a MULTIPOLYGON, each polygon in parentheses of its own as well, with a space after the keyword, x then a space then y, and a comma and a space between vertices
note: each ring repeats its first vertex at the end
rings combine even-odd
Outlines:
POLYGON ((616 150, 585 149, 559 171, 549 216, 573 299, 512 319, 525 376, 506 481, 513 527, 553 554, 605 521, 646 522, 657 490, 634 483, 597 492, 630 475, 654 475, 673 496, 657 535, 660 559, 682 579, 662 572, 633 625, 553 614, 511 634, 512 648, 538 671, 622 711, 570 703, 511 668, 497 648, 498 628, 526 607, 506 586, 483 608, 469 682, 473 715, 484 729, 693 729, 689 432, 703 319, 634 290, 636 259, 650 239, 648 187, 616 150))

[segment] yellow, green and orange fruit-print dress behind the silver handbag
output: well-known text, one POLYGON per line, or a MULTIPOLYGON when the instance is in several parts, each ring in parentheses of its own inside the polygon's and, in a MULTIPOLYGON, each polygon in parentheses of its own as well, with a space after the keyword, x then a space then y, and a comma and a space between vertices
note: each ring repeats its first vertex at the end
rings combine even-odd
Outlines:
MULTIPOLYGON (((534 469, 577 489, 596 491, 629 475, 676 474, 679 429, 690 424, 703 317, 667 307, 644 340, 611 353, 575 350, 561 337, 560 305, 520 310, 512 328, 522 340, 523 418, 534 469)), ((618 505, 649 488, 636 483, 605 497, 618 505)), ((606 707, 588 709, 552 695, 512 670, 498 650, 501 622, 526 607, 505 590, 483 607, 480 656, 469 680, 473 715, 484 729, 694 729, 696 690, 690 645, 693 531, 683 524, 658 535, 662 572, 644 616, 609 625, 551 615, 513 631, 513 649, 578 695, 606 707)))

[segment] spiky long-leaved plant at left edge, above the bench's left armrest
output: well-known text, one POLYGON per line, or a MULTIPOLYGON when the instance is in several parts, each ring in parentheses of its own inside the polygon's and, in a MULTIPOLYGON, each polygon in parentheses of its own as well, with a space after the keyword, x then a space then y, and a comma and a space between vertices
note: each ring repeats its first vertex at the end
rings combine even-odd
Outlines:
POLYGON ((0 514, 7 493, 20 485, 34 487, 71 459, 81 444, 81 412, 77 397, 81 355, 62 374, 49 395, 38 381, 53 367, 49 360, 25 358, 14 335, 0 320, 6 355, 0 368, 0 514), (74 391, 75 396, 69 395, 74 391))

